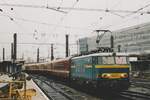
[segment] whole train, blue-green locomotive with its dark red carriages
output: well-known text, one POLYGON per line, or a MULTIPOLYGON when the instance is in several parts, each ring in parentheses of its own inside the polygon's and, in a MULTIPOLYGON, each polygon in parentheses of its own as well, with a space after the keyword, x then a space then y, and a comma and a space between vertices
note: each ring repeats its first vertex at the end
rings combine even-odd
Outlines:
POLYGON ((27 73, 45 74, 72 84, 98 89, 126 90, 130 86, 127 53, 93 53, 46 63, 25 64, 27 73))

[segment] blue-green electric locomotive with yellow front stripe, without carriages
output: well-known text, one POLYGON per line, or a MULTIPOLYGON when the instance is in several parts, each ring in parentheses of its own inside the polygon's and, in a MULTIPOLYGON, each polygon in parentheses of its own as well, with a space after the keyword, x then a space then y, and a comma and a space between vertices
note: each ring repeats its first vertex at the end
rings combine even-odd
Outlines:
POLYGON ((95 53, 71 59, 71 79, 96 88, 129 87, 129 59, 125 53, 95 53))

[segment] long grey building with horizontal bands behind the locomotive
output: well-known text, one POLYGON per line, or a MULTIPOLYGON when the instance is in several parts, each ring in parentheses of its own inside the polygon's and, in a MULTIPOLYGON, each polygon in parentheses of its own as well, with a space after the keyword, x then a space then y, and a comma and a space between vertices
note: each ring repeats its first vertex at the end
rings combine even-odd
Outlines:
POLYGON ((79 39, 79 51, 88 52, 97 49, 97 47, 110 47, 111 35, 114 38, 114 51, 149 53, 150 52, 150 23, 144 23, 113 32, 107 32, 103 35, 97 44, 97 36, 79 39))

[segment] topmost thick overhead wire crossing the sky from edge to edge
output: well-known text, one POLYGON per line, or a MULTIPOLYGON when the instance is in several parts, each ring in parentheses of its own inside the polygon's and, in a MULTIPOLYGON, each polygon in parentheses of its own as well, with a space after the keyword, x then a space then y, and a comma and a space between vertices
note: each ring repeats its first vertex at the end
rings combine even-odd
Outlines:
MULTIPOLYGON (((150 4, 149 4, 150 5, 150 4)), ((144 8, 148 7, 146 5, 144 8)), ((45 5, 23 5, 23 4, 0 4, 0 6, 15 6, 15 7, 29 7, 29 8, 46 8, 52 9, 55 11, 64 12, 67 14, 65 10, 74 10, 74 11, 95 11, 95 12, 118 12, 118 13, 142 13, 142 14, 150 14, 150 11, 141 11, 141 10, 113 10, 113 9, 95 9, 95 8, 75 8, 75 7, 55 7, 55 6, 45 6, 45 5)), ((141 8, 142 9, 142 8, 141 8)))

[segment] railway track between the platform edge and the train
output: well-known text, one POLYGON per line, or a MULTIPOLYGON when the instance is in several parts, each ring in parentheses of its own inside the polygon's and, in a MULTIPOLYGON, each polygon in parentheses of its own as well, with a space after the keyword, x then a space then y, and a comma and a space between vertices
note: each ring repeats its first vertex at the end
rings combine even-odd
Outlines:
POLYGON ((50 100, 88 100, 85 96, 78 95, 45 77, 32 76, 33 81, 41 88, 50 100))

